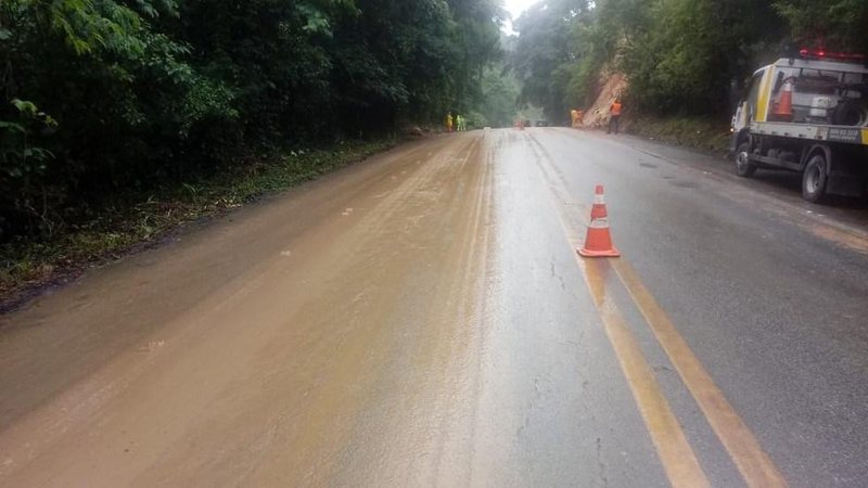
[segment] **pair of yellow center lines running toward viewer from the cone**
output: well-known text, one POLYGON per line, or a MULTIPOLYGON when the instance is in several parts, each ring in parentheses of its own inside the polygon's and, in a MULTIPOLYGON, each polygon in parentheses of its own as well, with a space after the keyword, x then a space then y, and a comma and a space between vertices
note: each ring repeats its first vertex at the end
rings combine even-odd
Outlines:
MULTIPOLYGON (((566 232, 565 228, 564 231, 566 232)), ((585 259, 578 255, 576 262, 583 271, 607 336, 615 350, 669 483, 675 487, 710 486, 636 337, 607 293, 608 274, 612 269, 633 297, 748 486, 752 488, 788 486, 750 428, 736 413, 629 264, 624 258, 585 259)))

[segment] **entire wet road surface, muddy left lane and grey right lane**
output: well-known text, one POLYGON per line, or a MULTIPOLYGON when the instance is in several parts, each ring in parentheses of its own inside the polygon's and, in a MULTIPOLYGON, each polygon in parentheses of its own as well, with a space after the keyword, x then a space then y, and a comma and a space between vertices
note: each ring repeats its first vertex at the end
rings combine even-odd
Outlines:
POLYGON ((0 486, 866 486, 868 213, 730 172, 474 131, 188 229, 0 319, 0 486))

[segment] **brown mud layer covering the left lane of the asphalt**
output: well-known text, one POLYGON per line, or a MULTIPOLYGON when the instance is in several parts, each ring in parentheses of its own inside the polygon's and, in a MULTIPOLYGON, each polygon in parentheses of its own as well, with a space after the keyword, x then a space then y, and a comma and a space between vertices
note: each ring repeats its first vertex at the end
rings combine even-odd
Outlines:
POLYGON ((434 476, 347 449, 462 455, 432 412, 473 407, 455 369, 481 330, 485 144, 404 145, 5 318, 0 485, 376 485, 384 460, 434 476))

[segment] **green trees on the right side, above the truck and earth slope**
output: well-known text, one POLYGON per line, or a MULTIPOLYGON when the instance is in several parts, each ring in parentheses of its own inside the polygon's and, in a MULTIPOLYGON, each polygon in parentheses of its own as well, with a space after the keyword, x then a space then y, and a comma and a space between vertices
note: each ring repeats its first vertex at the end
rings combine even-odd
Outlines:
POLYGON ((546 0, 516 23, 512 64, 554 119, 590 103, 607 68, 627 76, 628 106, 723 115, 760 63, 796 44, 865 52, 866 27, 864 0, 546 0))

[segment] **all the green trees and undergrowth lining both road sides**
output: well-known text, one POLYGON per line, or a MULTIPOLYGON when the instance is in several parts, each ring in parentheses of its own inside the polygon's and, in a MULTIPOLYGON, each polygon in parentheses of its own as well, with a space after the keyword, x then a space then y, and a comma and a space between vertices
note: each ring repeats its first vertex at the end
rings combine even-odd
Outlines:
POLYGON ((612 74, 628 130, 719 151, 756 66, 868 51, 864 0, 545 0, 518 37, 506 17, 500 0, 0 1, 0 296, 447 113, 565 124, 612 74))

